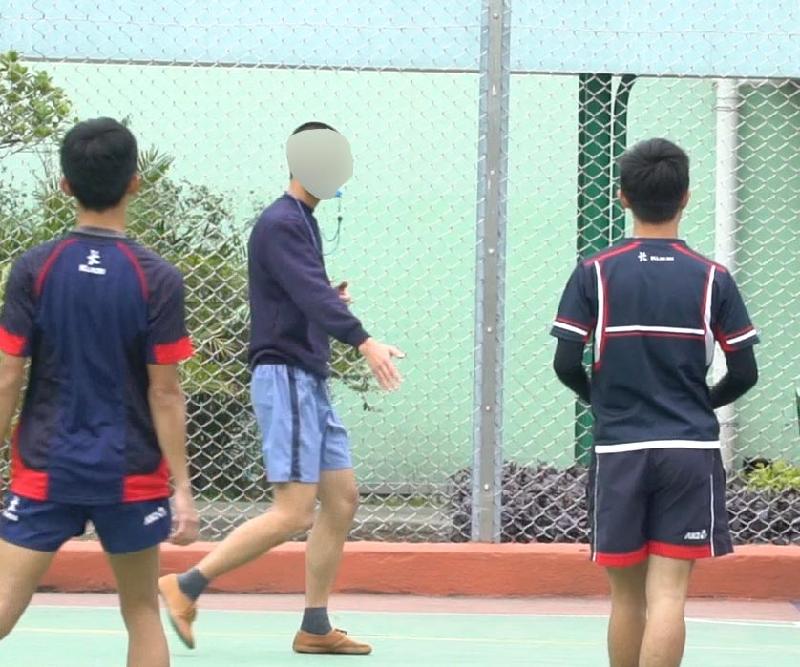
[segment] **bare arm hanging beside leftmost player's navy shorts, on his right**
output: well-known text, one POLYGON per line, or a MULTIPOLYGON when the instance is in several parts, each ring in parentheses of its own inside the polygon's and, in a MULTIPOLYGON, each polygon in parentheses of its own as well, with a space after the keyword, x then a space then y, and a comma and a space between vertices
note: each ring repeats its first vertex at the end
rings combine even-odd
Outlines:
POLYGON ((175 484, 175 544, 197 539, 198 519, 192 498, 192 484, 186 458, 186 399, 180 386, 178 367, 149 365, 148 401, 158 446, 167 461, 175 484))

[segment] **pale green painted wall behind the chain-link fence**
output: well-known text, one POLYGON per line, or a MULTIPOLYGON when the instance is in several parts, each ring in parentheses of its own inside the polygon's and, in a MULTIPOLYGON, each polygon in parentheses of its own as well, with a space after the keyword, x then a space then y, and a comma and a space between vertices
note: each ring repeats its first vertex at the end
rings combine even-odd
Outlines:
MULTIPOLYGON (((130 116, 143 146, 177 158, 176 174, 228 193, 242 233, 285 186, 291 129, 310 118, 342 129, 356 170, 331 273, 351 281, 369 330, 408 353, 406 384, 378 398, 377 411, 365 413, 356 397, 337 392, 361 476, 437 482, 471 462, 477 75, 47 67, 79 116, 130 116)), ((575 261, 577 92, 577 77, 512 77, 504 428, 507 456, 523 462, 568 465, 573 456, 574 403, 553 378, 548 330, 575 261)), ((630 141, 668 135, 689 150, 685 235, 713 252, 712 84, 640 80, 630 105, 630 141)), ((764 330, 764 379, 741 413, 740 440, 755 453, 785 445, 783 396, 788 406, 800 376, 800 114, 797 102, 750 95, 745 118, 751 106, 753 122, 742 132, 738 278, 764 330), (767 125, 755 122, 764 104, 773 114, 767 125), (776 145, 764 139, 770 132, 780 135, 776 145)), ((18 164, 24 180, 32 163, 18 164)), ((319 217, 330 235, 335 204, 319 217)))

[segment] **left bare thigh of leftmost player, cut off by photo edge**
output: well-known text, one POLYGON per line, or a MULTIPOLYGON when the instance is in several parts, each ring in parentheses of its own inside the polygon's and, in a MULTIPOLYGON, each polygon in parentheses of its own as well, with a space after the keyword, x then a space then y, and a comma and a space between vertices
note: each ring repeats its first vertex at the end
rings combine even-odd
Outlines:
POLYGON ((53 556, 0 540, 0 639, 8 636, 28 608, 53 556))

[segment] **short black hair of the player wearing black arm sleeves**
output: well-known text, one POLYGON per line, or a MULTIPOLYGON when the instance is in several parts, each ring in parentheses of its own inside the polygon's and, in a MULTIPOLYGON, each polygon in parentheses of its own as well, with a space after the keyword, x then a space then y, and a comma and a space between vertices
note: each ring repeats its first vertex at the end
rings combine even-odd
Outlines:
POLYGON ((672 220, 689 190, 689 156, 667 139, 648 139, 618 162, 619 186, 642 222, 672 220))

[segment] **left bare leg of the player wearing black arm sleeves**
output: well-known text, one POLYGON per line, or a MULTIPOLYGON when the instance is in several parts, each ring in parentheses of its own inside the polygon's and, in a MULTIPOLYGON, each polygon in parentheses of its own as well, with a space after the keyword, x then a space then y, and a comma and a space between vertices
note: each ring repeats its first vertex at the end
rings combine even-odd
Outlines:
POLYGON ((646 562, 633 567, 608 568, 611 582, 608 657, 611 667, 639 667, 647 620, 646 577, 646 562))

